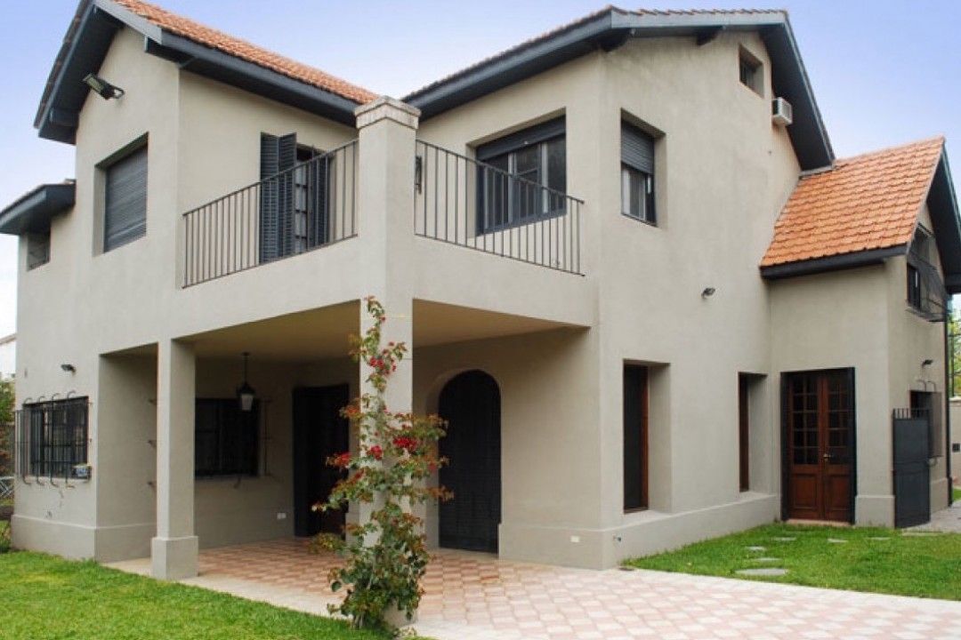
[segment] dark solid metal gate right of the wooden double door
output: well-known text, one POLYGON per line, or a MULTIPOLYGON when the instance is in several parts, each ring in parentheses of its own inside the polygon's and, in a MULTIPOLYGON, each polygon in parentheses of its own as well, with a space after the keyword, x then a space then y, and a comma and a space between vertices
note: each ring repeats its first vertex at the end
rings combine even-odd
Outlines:
POLYGON ((919 409, 896 409, 893 417, 895 526, 914 527, 931 519, 930 417, 919 409))

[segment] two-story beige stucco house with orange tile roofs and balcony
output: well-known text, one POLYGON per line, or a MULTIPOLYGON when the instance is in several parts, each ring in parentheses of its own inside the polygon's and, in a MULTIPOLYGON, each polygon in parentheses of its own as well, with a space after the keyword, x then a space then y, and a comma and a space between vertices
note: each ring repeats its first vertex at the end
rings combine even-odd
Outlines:
POLYGON ((390 406, 449 421, 432 545, 609 567, 949 502, 944 141, 836 158, 784 12, 608 8, 398 101, 83 0, 36 126, 76 176, 0 212, 18 547, 179 578, 365 517, 310 506, 371 295, 390 406))

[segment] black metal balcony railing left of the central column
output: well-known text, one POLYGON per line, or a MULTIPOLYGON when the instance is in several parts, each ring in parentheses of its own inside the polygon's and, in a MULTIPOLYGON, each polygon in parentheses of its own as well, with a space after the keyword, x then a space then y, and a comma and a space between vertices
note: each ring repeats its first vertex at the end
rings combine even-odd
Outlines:
POLYGON ((357 141, 184 214, 184 286, 357 235, 357 141))

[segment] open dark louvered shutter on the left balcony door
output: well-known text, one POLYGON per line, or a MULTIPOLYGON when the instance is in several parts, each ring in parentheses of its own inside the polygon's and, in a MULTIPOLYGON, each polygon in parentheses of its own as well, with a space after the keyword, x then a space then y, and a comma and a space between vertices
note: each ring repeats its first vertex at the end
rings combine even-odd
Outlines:
POLYGON ((281 175, 297 162, 297 135, 260 134, 260 262, 293 249, 293 176, 281 175))

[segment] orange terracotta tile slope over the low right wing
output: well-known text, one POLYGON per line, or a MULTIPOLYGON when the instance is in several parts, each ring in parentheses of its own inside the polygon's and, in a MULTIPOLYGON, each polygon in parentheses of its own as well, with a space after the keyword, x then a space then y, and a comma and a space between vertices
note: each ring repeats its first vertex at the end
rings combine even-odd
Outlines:
POLYGON ((802 177, 761 267, 907 244, 944 144, 936 137, 856 155, 802 177))

